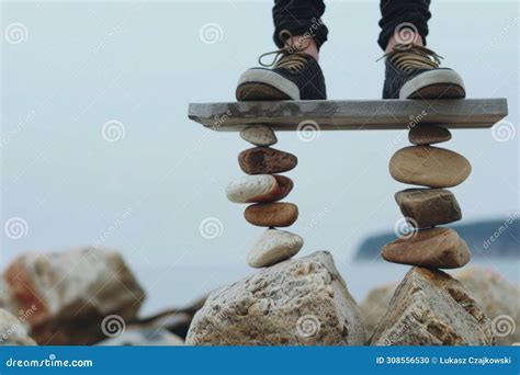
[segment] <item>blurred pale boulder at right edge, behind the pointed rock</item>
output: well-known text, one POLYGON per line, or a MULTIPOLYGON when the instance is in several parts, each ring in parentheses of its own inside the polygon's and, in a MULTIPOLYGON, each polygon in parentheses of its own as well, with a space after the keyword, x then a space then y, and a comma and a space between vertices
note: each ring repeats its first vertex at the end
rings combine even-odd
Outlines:
POLYGON ((520 342, 520 288, 491 270, 471 266, 456 277, 491 320, 497 344, 520 342))

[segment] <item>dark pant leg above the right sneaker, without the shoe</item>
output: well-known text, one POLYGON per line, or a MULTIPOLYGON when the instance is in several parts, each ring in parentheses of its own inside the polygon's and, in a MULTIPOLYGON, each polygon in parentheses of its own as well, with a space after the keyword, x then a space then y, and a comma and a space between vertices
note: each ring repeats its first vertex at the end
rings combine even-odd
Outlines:
POLYGON ((417 31, 426 45, 428 20, 431 16, 430 0, 381 0, 380 7, 382 19, 377 43, 381 48, 385 49, 392 35, 399 31, 403 35, 400 39, 407 42, 407 34, 406 31, 403 32, 403 27, 417 31))

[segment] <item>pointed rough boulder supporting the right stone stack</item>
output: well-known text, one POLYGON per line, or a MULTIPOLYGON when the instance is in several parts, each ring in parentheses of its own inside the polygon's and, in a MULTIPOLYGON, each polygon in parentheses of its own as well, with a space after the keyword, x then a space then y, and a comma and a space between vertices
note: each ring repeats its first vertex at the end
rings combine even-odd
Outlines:
POLYGON ((375 327, 372 345, 490 345, 491 322, 460 282, 412 268, 375 327))

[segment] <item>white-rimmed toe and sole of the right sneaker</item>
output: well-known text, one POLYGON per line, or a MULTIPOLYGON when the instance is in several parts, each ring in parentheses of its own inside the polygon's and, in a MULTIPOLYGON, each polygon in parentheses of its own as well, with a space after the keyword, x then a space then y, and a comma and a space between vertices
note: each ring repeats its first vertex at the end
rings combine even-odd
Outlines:
POLYGON ((462 99, 465 96, 464 81, 453 70, 423 72, 406 82, 399 91, 399 99, 462 99))

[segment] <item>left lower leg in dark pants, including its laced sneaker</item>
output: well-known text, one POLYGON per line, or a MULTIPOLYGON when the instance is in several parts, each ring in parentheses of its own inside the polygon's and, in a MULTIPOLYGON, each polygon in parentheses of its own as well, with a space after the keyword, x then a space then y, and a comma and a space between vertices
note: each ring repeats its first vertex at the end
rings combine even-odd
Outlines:
POLYGON ((276 56, 272 64, 265 65, 260 58, 261 68, 248 69, 240 76, 237 100, 327 98, 325 78, 318 65, 319 47, 327 41, 328 33, 321 21, 324 11, 323 0, 274 1, 273 38, 280 49, 274 52, 276 56))

